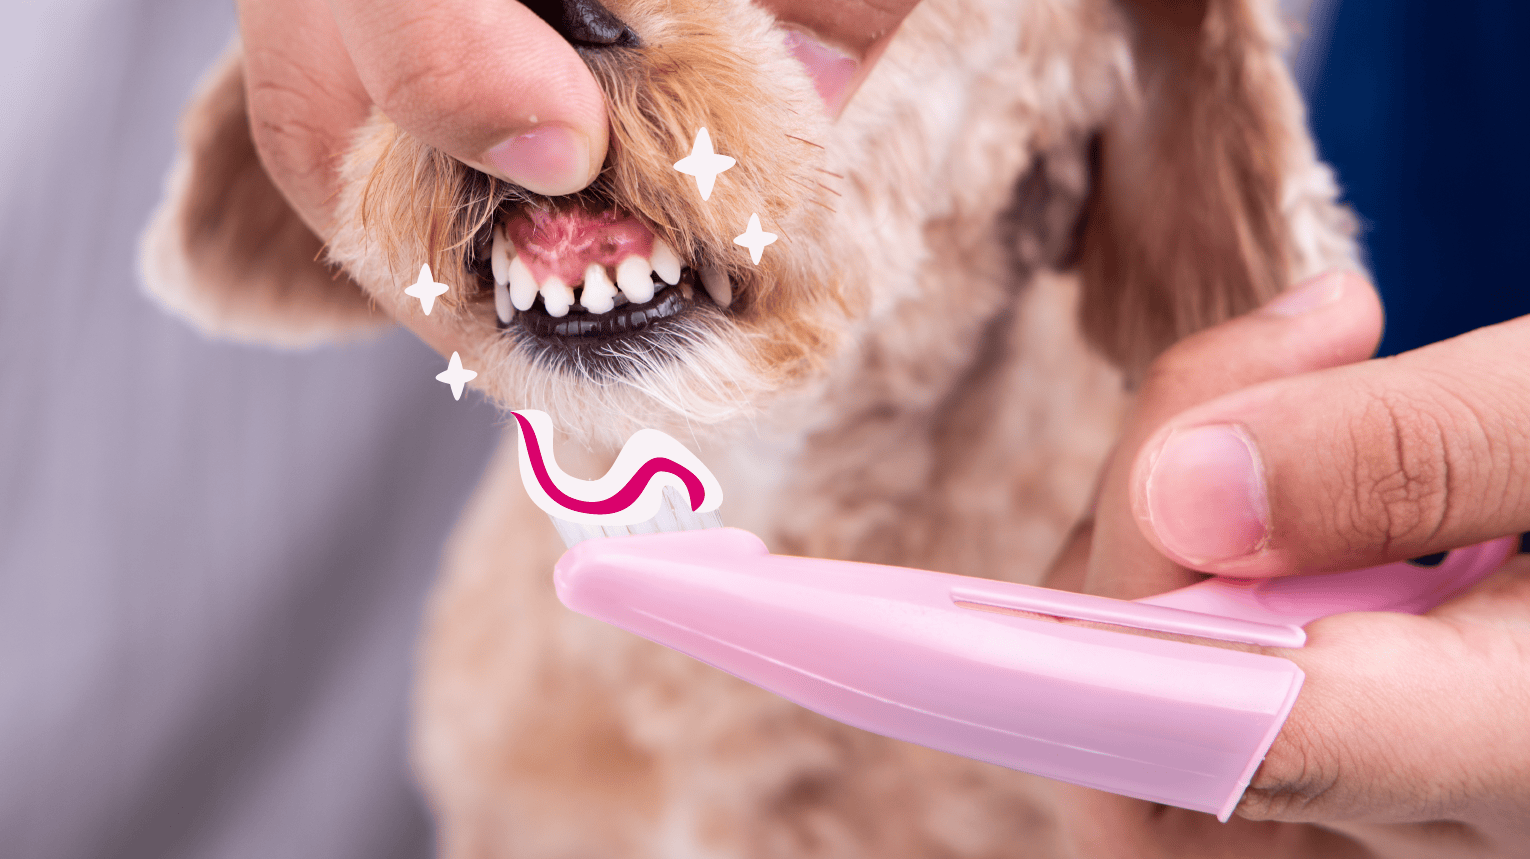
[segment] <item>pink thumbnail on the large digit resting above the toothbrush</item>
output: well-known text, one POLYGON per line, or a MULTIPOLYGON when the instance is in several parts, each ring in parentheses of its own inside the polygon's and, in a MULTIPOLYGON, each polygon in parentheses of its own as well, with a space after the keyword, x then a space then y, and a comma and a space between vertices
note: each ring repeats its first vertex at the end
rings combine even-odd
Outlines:
POLYGON ((1148 472, 1146 496, 1158 541, 1190 563, 1244 557, 1268 539, 1264 465, 1241 427, 1170 433, 1148 472))

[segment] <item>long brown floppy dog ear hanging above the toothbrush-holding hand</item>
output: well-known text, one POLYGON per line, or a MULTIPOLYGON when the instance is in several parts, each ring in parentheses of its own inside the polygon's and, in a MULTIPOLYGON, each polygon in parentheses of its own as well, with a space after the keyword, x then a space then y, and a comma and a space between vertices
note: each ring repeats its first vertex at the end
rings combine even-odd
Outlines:
POLYGON ((1357 262, 1276 3, 1118 5, 1135 92, 1097 141, 1079 263, 1085 334, 1135 378, 1175 340, 1357 262))

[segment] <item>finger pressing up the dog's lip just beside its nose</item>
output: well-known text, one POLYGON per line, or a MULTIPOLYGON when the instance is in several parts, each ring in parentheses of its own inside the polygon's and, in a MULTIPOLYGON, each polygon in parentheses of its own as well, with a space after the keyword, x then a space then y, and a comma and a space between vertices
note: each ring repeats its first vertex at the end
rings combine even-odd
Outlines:
POLYGON ((606 104, 578 52, 508 0, 332 0, 372 101, 399 127, 539 194, 606 159, 606 104))

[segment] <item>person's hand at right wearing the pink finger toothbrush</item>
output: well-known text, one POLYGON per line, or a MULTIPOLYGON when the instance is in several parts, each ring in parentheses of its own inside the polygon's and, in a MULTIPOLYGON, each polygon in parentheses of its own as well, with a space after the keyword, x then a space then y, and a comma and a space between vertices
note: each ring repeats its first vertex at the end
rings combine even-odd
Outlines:
MULTIPOLYGON (((1530 530, 1530 317, 1357 363, 1380 326, 1331 274, 1166 352, 1050 583, 1135 599, 1530 530)), ((1265 651, 1307 684, 1230 824, 1063 787, 1079 856, 1530 856, 1530 556, 1307 632, 1265 651)))

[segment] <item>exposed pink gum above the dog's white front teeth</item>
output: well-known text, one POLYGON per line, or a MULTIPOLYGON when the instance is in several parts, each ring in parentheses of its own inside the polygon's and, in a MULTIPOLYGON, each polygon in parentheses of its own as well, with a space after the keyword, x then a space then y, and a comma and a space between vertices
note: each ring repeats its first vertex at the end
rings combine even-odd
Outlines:
POLYGON ((653 259, 653 231, 610 208, 522 211, 505 222, 505 236, 537 283, 552 274, 566 285, 580 283, 592 262, 615 268, 630 256, 653 259))

